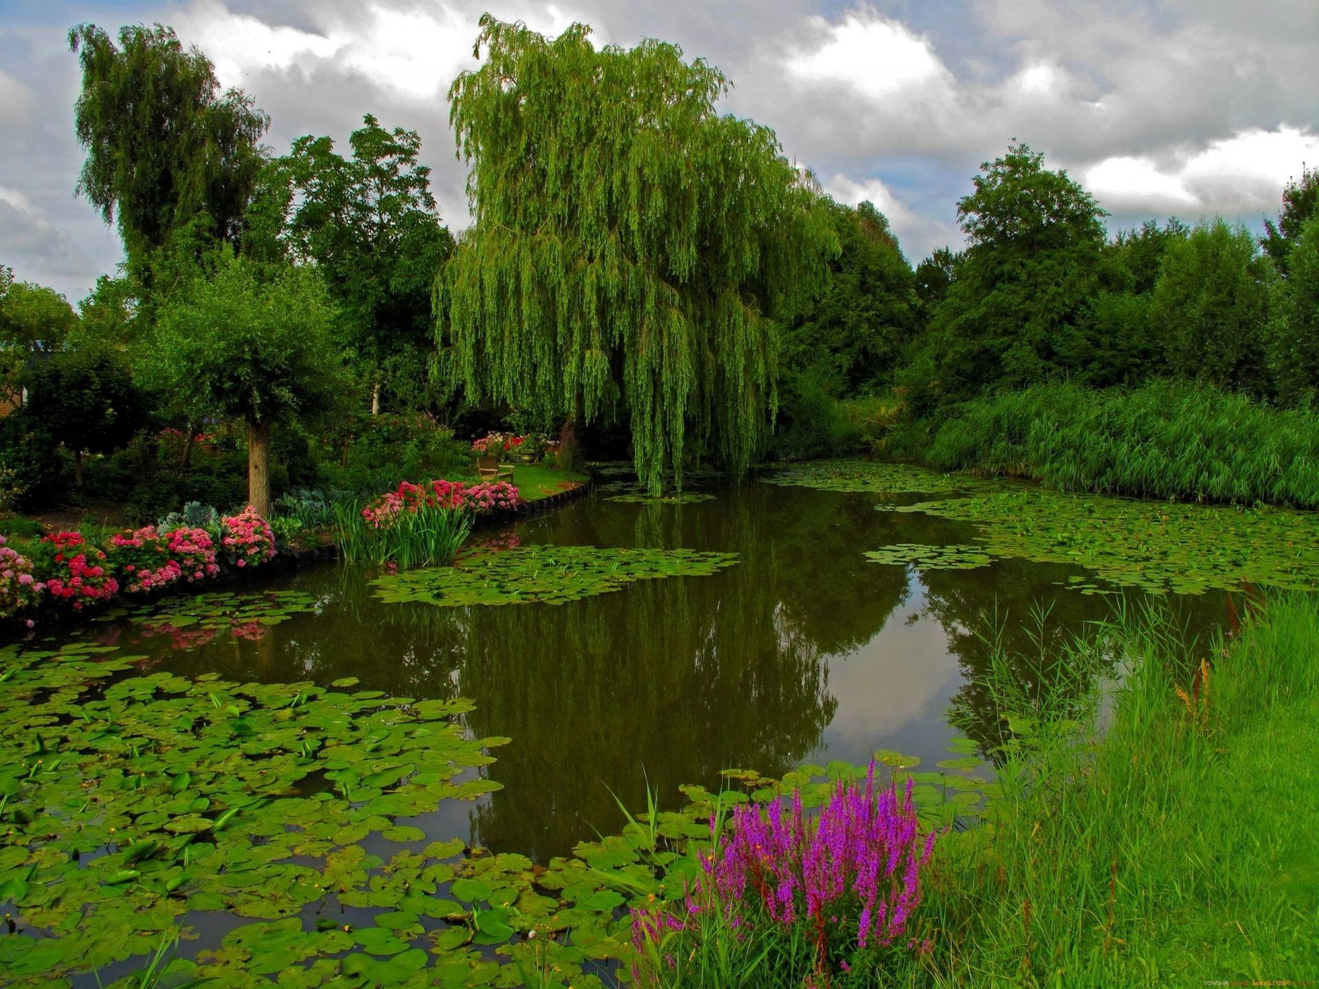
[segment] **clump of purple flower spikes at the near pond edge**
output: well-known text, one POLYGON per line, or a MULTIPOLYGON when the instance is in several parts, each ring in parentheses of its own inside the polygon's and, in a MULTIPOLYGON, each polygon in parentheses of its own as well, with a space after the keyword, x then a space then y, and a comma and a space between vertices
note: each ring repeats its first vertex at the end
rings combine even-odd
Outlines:
POLYGON ((679 907, 632 913, 634 978, 645 986, 871 985, 909 935, 935 832, 921 833, 911 781, 839 781, 818 816, 741 804, 679 907))

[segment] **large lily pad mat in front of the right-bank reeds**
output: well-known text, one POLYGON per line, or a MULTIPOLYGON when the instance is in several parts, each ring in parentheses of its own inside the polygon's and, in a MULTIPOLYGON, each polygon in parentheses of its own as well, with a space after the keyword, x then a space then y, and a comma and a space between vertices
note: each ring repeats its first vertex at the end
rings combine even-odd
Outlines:
POLYGON ((973 522, 983 551, 992 556, 1078 564, 1113 584, 1154 592, 1203 593, 1242 582, 1286 588, 1319 583, 1319 517, 1301 512, 1042 488, 876 508, 973 522))

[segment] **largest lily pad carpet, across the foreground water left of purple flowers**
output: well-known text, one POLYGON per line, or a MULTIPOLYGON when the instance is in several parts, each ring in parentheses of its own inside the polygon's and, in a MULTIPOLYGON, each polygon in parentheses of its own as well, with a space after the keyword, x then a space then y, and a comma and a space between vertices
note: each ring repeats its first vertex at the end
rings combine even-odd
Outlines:
MULTIPOLYGON (((481 771, 508 740, 468 737, 468 702, 127 675, 137 659, 92 644, 0 651, 0 740, 15 753, 0 770, 0 903, 17 924, 0 936, 7 985, 145 963, 162 936, 226 914, 244 923, 183 949, 171 978, 514 986, 536 972, 600 986, 629 957, 627 907, 683 895, 686 845, 708 839, 716 800, 799 786, 815 806, 864 773, 729 771, 719 795, 685 787, 682 810, 537 865, 408 823, 497 789, 481 771)), ((913 775, 929 827, 992 795, 969 760, 921 773, 914 757, 876 758, 913 775)))

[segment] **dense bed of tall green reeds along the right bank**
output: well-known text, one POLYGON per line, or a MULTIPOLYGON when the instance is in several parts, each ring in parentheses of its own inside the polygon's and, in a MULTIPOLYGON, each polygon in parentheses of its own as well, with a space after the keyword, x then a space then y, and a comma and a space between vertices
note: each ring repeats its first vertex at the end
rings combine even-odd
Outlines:
POLYGON ((1208 386, 1002 393, 959 406, 915 454, 1063 491, 1319 508, 1319 417, 1208 386))

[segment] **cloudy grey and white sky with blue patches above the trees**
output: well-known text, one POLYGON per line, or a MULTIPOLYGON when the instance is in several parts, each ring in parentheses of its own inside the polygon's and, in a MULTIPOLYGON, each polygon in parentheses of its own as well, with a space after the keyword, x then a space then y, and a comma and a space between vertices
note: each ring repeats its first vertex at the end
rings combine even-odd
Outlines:
POLYGON ((1171 215, 1260 228, 1319 165, 1316 0, 0 0, 0 264, 77 302, 121 260, 74 195, 79 73, 66 34, 171 25, 272 117, 265 142, 339 144, 365 113, 415 129, 445 222, 468 223, 446 94, 489 11, 596 44, 677 42, 836 199, 869 199, 906 256, 964 243, 958 199, 1021 140, 1109 231, 1171 215))

